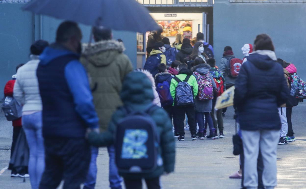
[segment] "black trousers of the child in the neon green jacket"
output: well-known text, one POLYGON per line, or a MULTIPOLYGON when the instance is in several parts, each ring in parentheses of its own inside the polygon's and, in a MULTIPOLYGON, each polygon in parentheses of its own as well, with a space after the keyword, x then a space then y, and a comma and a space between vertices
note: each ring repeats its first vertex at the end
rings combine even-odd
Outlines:
POLYGON ((189 130, 191 134, 196 134, 196 119, 194 106, 174 106, 173 107, 173 123, 174 129, 177 127, 180 135, 185 135, 184 120, 185 114, 188 118, 189 130))

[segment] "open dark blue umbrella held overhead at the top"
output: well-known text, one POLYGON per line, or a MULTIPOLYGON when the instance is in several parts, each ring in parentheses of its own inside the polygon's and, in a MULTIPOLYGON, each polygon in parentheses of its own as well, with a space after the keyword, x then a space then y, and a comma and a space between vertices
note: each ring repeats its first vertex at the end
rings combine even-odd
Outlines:
POLYGON ((144 33, 159 28, 135 0, 33 0, 23 10, 114 30, 144 33))

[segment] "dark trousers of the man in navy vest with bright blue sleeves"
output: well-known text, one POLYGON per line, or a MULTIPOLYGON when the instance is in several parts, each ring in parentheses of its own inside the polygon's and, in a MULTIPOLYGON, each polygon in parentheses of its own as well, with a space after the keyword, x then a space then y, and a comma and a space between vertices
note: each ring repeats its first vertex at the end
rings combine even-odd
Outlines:
POLYGON ((44 138, 46 167, 39 189, 80 189, 84 183, 91 151, 84 138, 44 138))

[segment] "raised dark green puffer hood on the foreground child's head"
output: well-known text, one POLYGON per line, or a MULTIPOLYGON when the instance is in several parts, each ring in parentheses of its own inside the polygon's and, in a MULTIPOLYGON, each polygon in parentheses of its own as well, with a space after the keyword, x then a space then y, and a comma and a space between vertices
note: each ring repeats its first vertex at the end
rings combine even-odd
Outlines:
POLYGON ((154 100, 152 82, 143 72, 127 74, 122 86, 120 97, 127 106, 148 106, 154 100))

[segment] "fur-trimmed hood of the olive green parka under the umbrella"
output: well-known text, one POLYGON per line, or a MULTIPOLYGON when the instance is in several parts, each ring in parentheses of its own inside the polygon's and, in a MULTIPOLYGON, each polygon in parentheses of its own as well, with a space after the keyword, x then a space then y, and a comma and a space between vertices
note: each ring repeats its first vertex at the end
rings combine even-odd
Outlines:
POLYGON ((83 56, 96 67, 107 66, 125 51, 123 43, 115 40, 99 41, 93 44, 83 44, 83 56))

